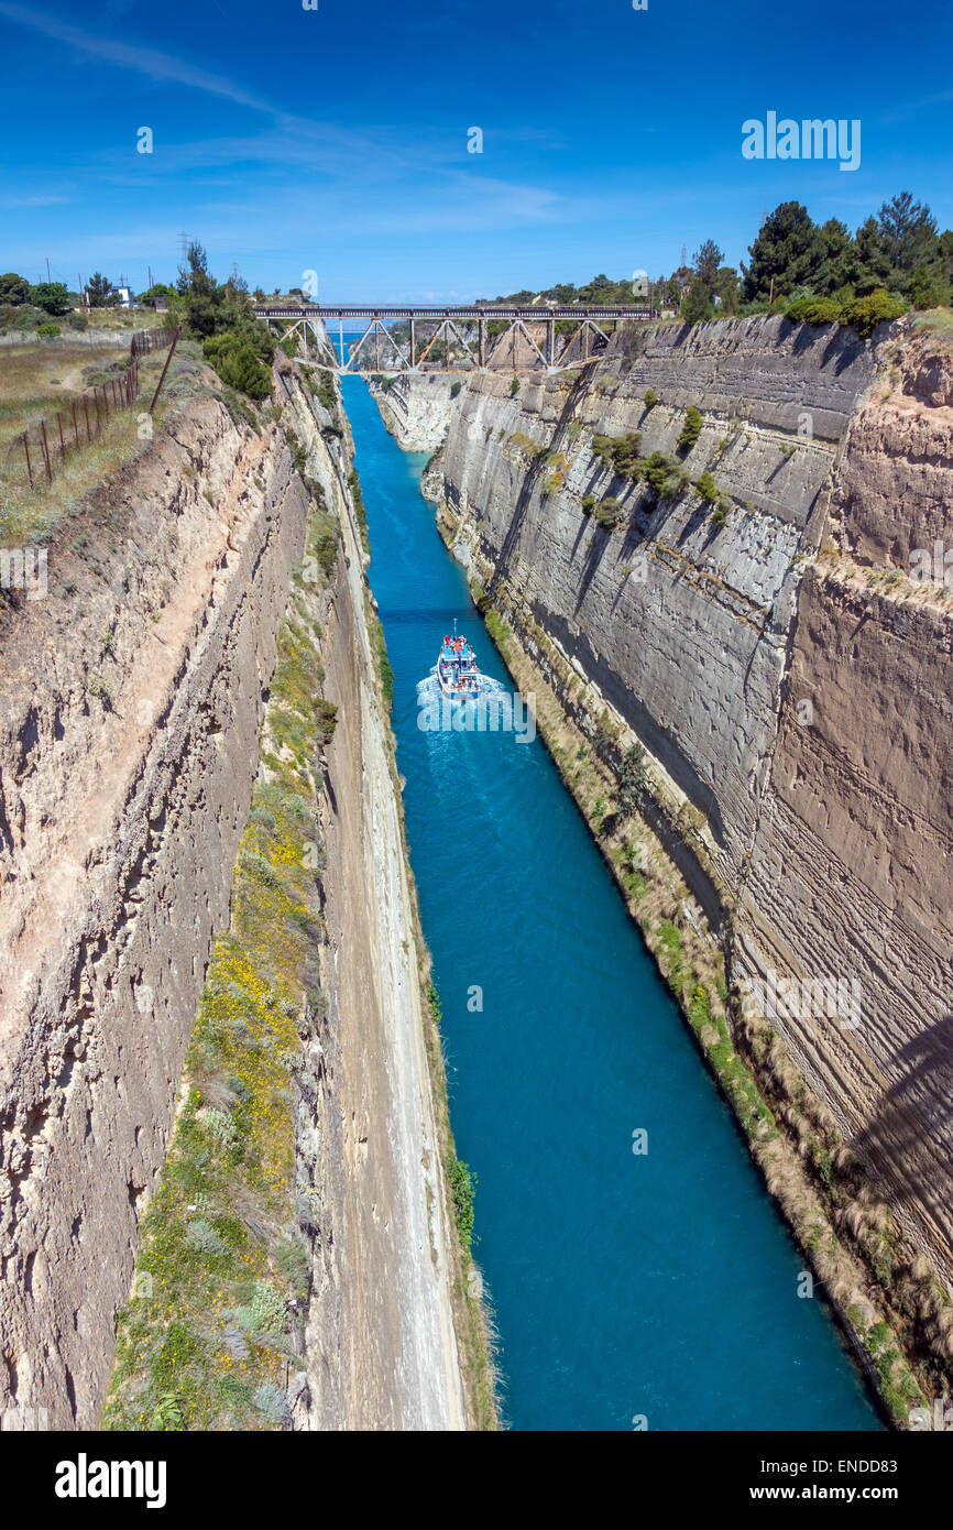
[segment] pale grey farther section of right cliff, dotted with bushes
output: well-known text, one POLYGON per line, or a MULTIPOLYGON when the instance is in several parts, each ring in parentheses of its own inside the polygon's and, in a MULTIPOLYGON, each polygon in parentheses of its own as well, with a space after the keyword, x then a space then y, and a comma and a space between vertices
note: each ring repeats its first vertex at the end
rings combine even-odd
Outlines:
POLYGON ((805 416, 840 428, 870 360, 841 343, 811 366, 777 321, 705 329, 662 327, 639 337, 635 361, 526 381, 516 398, 505 379, 471 382, 444 473, 447 505, 473 526, 494 577, 705 814, 733 889, 774 739, 795 560, 811 546, 835 454, 834 442, 795 431, 805 416), (659 396, 652 409, 647 387, 659 396), (590 450, 594 435, 638 430, 642 456, 672 453, 690 402, 704 427, 684 470, 711 471, 731 496, 724 526, 696 496, 652 506, 590 450), (624 528, 609 534, 587 519, 586 494, 615 496, 624 528))

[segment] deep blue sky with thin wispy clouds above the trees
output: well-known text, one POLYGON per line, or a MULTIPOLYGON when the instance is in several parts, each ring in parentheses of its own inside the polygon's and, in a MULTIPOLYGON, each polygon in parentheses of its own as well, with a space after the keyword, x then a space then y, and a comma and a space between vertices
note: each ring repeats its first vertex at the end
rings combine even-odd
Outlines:
POLYGON ((953 226, 951 32, 935 0, 0 0, 0 269, 142 288, 185 231, 266 291, 453 301, 737 263, 789 197, 953 226), (745 161, 769 110, 858 118, 860 168, 745 161))

